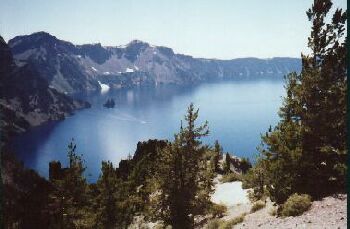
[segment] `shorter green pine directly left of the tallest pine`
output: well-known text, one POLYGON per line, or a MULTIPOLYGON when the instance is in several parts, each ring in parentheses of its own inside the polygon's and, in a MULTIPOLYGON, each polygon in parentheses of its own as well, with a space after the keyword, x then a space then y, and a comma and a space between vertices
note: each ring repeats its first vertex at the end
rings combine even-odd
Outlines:
MULTIPOLYGON (((288 75, 287 97, 279 113, 281 121, 272 132, 262 136, 263 146, 260 148, 266 159, 266 163, 261 161, 260 170, 266 170, 267 189, 271 199, 278 204, 283 203, 295 191, 297 180, 300 179, 298 174, 301 168, 302 135, 297 114, 300 92, 298 77, 296 73, 288 75)), ((261 185, 258 190, 260 193, 263 191, 261 185)))

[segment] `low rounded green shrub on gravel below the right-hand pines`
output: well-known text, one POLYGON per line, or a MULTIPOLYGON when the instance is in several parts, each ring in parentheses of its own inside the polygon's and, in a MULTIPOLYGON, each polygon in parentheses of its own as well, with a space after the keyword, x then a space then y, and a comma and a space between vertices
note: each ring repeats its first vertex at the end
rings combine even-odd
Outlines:
POLYGON ((307 194, 291 195, 282 206, 282 216, 298 216, 311 206, 311 197, 307 194))

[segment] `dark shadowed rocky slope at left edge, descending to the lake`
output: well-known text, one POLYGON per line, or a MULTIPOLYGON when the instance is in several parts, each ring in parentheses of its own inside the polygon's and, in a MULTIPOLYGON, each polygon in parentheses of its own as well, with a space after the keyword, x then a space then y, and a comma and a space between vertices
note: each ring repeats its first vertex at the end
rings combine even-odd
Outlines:
POLYGON ((0 37, 0 110, 1 128, 21 132, 48 120, 59 120, 75 109, 87 107, 50 88, 31 63, 17 66, 11 51, 0 37))

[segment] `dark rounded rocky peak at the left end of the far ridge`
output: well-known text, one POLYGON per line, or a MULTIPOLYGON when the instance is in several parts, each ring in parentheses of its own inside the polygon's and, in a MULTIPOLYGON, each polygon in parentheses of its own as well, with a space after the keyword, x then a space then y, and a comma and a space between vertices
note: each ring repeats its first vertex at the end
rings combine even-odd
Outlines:
POLYGON ((99 89, 99 84, 87 74, 76 58, 73 44, 58 40, 48 33, 19 36, 9 41, 19 66, 32 64, 50 87, 62 93, 99 89))

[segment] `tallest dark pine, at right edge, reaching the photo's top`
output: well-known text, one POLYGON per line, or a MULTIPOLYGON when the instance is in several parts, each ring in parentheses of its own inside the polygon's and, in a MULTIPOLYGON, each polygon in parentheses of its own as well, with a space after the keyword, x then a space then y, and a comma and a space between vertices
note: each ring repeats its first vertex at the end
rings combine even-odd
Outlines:
POLYGON ((315 196, 345 190, 347 12, 336 9, 327 23, 331 8, 330 0, 317 0, 307 11, 312 56, 303 58, 301 78, 302 161, 311 169, 301 171, 299 186, 315 196))

